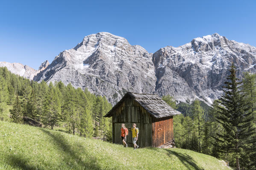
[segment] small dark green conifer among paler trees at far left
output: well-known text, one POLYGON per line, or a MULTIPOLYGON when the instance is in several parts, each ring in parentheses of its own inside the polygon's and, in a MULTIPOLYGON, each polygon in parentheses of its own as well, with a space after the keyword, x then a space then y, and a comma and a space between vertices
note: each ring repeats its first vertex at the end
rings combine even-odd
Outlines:
POLYGON ((21 108, 21 103, 18 95, 16 96, 13 109, 10 110, 10 117, 12 119, 12 122, 15 122, 15 123, 23 122, 22 108, 21 108))

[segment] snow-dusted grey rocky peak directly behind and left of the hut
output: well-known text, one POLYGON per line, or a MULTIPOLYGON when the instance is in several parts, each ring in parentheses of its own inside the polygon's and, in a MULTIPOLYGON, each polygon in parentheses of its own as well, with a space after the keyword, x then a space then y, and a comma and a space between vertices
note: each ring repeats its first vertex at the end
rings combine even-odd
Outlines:
POLYGON ((151 94, 156 83, 152 54, 106 32, 86 36, 76 47, 61 52, 34 77, 38 82, 43 79, 88 88, 112 103, 127 91, 151 94))

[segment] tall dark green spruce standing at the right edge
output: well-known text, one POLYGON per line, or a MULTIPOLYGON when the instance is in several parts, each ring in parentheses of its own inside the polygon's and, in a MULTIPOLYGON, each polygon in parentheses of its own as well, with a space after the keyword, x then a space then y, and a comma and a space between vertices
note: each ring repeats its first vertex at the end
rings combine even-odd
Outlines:
POLYGON ((220 107, 216 120, 224 128, 223 133, 217 133, 217 142, 221 143, 219 150, 233 153, 236 160, 236 169, 240 170, 239 158, 244 152, 249 139, 254 133, 252 127, 251 105, 246 105, 244 94, 241 92, 241 82, 235 75, 235 66, 232 63, 230 76, 223 87, 224 95, 220 99, 220 107))

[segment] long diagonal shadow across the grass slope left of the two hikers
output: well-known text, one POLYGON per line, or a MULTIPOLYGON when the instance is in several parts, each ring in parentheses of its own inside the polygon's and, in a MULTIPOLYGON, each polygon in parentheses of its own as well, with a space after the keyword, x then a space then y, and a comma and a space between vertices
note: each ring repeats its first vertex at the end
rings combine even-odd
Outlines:
MULTIPOLYGON (((96 164, 96 158, 93 156, 88 156, 89 160, 88 161, 83 161, 82 157, 76 153, 71 147, 71 145, 68 144, 68 142, 65 142, 64 135, 61 133, 52 133, 49 130, 45 130, 43 128, 40 128, 40 130, 44 133, 46 133, 48 136, 53 139, 53 142, 56 143, 56 145, 59 147, 59 150, 62 150, 65 152, 64 161, 67 167, 70 167, 71 169, 81 169, 81 167, 84 167, 86 170, 100 170, 101 168, 99 167, 98 164, 96 164), (77 164, 77 165, 76 165, 77 164)), ((81 144, 73 144, 73 147, 81 148, 83 149, 84 146, 81 144), (75 145, 75 146, 74 146, 75 145)), ((86 153, 84 153, 86 154, 86 153)))

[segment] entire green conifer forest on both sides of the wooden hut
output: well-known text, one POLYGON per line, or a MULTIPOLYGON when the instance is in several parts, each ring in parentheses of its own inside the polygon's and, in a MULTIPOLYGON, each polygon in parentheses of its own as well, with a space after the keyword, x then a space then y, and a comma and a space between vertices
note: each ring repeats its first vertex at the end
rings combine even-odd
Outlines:
MULTIPOLYGON (((236 169, 256 168, 256 74, 242 79, 230 68, 223 95, 211 107, 200 100, 191 105, 163 96, 182 112, 174 116, 174 139, 179 148, 223 159, 236 169)), ((47 127, 73 135, 112 141, 112 123, 103 117, 112 105, 104 96, 62 82, 41 83, 0 68, 0 119, 47 127)))

